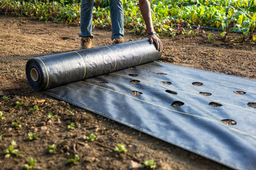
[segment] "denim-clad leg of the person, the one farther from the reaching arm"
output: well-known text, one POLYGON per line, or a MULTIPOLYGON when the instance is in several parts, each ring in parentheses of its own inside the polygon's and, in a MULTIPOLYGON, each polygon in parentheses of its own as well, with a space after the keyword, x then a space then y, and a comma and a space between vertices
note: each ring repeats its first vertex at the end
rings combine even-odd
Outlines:
POLYGON ((94 0, 82 0, 81 2, 81 21, 80 28, 81 33, 79 37, 91 37, 92 35, 92 10, 94 0))

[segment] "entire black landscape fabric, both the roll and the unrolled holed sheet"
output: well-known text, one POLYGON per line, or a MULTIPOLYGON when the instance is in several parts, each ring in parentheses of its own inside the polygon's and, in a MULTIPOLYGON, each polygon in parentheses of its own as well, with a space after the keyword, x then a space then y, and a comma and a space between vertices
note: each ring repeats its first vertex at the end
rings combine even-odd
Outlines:
POLYGON ((26 72, 35 90, 228 167, 255 169, 256 81, 151 62, 159 56, 140 40, 34 58, 26 72), (29 78, 35 67, 38 87, 29 78))

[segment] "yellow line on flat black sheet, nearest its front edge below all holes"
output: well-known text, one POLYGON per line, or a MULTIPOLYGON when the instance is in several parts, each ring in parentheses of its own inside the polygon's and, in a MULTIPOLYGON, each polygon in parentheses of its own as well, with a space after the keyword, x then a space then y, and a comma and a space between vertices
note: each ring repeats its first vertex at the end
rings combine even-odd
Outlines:
POLYGON ((241 131, 241 130, 235 129, 235 128, 233 128, 233 127, 228 126, 228 125, 225 124, 225 123, 220 123, 220 122, 218 122, 218 121, 212 120, 212 119, 207 118, 207 117, 198 116, 198 115, 194 115, 194 114, 189 114, 189 113, 185 113, 185 112, 174 111, 173 109, 170 109, 170 108, 167 108, 167 107, 164 107, 164 106, 160 106, 160 105, 157 105, 157 104, 154 104, 154 103, 150 103, 150 102, 148 102, 148 101, 141 100, 141 99, 135 98, 135 97, 130 96, 130 95, 122 94, 121 92, 118 92, 118 91, 115 91, 115 90, 111 90, 111 89, 108 89, 108 88, 105 88, 105 87, 101 87, 101 86, 98 86, 98 85, 95 85, 95 84, 92 84, 92 83, 88 83, 88 82, 85 82, 85 81, 80 81, 80 82, 86 83, 86 84, 90 84, 90 85, 92 85, 92 86, 96 86, 96 87, 99 87, 99 88, 102 88, 102 89, 110 90, 110 91, 116 92, 116 93, 118 93, 118 94, 120 94, 120 95, 124 95, 124 96, 127 96, 127 97, 131 97, 131 98, 133 98, 133 99, 135 99, 135 100, 139 100, 139 101, 142 101, 142 102, 147 103, 147 104, 150 104, 150 105, 154 105, 154 106, 157 106, 157 107, 161 107, 161 108, 167 109, 167 110, 172 111, 172 112, 176 112, 176 113, 180 113, 180 114, 184 114, 184 115, 189 115, 189 116, 194 116, 194 117, 203 118, 203 119, 205 119, 205 120, 212 121, 212 122, 221 124, 221 125, 223 125, 223 126, 226 126, 227 128, 233 129, 233 130, 235 130, 235 131, 237 131, 237 132, 241 132, 241 133, 243 133, 243 134, 249 135, 249 136, 251 136, 251 137, 253 137, 253 138, 256 139, 256 137, 255 137, 254 135, 252 135, 252 134, 249 134, 249 133, 243 132, 243 131, 241 131))

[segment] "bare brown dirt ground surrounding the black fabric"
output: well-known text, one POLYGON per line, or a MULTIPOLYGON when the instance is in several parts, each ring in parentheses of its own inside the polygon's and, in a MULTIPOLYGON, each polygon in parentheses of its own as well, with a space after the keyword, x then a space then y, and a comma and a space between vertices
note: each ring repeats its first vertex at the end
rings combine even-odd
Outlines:
MULTIPOLYGON (((0 15, 0 169, 23 169, 28 157, 37 160, 35 169, 128 169, 131 162, 141 164, 154 159, 155 169, 229 169, 209 159, 150 137, 64 101, 36 92, 29 86, 25 65, 29 58, 68 52, 79 48, 79 25, 45 23, 30 18, 0 15), (9 98, 3 99, 3 96, 9 98), (44 99, 43 101, 40 101, 44 99), (17 106, 16 101, 23 101, 17 106), (29 111, 37 105, 38 111, 29 111), (68 111, 74 113, 74 115, 68 111), (57 117, 47 118, 52 113, 57 117), (13 122, 21 127, 14 127, 13 122), (67 125, 75 122, 76 128, 67 125), (38 134, 29 140, 28 132, 38 134), (94 141, 87 141, 89 134, 94 141), (5 157, 4 150, 16 141, 20 156, 5 157), (57 147, 52 154, 49 145, 57 147), (127 152, 119 154, 122 143, 127 152), (65 164, 79 155, 78 165, 65 164)), ((93 46, 111 44, 110 29, 93 29, 93 46)), ((256 79, 256 45, 242 44, 239 35, 223 40, 220 32, 161 37, 161 61, 196 69, 256 79), (209 43, 207 37, 212 33, 209 43)), ((144 39, 125 30, 125 40, 144 39)), ((135 167, 134 167, 135 169, 135 167)))

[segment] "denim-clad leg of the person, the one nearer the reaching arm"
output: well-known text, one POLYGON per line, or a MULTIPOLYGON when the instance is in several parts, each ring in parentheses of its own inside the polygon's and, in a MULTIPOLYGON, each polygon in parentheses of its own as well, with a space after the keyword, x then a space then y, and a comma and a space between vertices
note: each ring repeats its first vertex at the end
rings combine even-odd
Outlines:
MULTIPOLYGON (((110 0, 110 15, 112 25, 111 39, 124 38, 124 11, 122 0, 110 0)), ((123 43, 123 42, 121 42, 123 43)))

